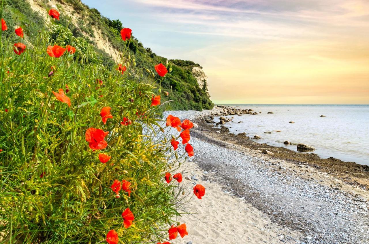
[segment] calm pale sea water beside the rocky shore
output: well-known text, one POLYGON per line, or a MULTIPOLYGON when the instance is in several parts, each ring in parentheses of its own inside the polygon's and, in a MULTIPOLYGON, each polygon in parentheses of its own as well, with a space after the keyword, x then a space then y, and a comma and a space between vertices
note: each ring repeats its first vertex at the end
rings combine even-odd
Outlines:
POLYGON ((283 142, 305 143, 314 146, 316 150, 313 153, 322 158, 334 157, 369 165, 369 105, 231 106, 262 112, 258 115, 234 115, 233 122, 227 123, 232 133, 246 132, 250 137, 259 135, 262 137, 259 143, 283 146, 294 151, 296 145, 285 146, 283 142), (274 114, 267 114, 269 111, 274 114), (239 121, 243 123, 237 123, 239 121))

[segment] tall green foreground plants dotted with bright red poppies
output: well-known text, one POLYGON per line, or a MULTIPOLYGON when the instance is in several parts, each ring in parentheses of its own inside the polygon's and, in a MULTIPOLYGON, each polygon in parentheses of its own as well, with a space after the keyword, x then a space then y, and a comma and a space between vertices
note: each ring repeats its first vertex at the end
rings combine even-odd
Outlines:
MULTIPOLYGON (((22 22, 24 38, 15 35, 29 6, 14 4, 0 12, 0 243, 158 243, 187 234, 175 217, 179 160, 194 154, 193 125, 158 119, 169 103, 156 85, 167 75, 137 68, 122 39, 121 66, 108 69, 51 17, 39 29, 34 15, 22 22), (169 140, 170 126, 184 129, 185 148, 179 136, 169 140)), ((188 76, 176 66, 172 72, 188 76)), ((203 187, 193 194, 201 199, 203 187)))

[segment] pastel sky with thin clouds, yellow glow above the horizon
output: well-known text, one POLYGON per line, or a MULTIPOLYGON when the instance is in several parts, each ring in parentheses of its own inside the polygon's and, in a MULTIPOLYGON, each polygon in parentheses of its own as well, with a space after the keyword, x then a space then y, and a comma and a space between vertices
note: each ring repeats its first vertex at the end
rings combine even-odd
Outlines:
POLYGON ((369 104, 369 0, 82 0, 192 60, 215 104, 369 104))

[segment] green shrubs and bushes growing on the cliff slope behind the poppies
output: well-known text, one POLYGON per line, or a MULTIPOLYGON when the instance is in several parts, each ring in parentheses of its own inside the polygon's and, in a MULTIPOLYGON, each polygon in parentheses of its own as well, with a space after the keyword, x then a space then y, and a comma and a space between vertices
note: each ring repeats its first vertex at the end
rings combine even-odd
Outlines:
MULTIPOLYGON (((56 4, 60 8, 61 18, 56 21, 50 28, 52 29, 52 37, 55 42, 60 40, 67 40, 73 43, 80 55, 86 52, 87 48, 91 46, 94 55, 89 55, 91 62, 98 63, 112 69, 115 66, 115 60, 104 50, 98 49, 94 43, 94 29, 101 30, 101 34, 111 43, 116 50, 123 50, 124 44, 121 42, 120 30, 123 24, 120 20, 110 20, 100 14, 95 8, 89 8, 80 0, 58 0, 56 4), (73 13, 78 14, 76 24, 69 21, 69 17, 63 14, 63 8, 60 4, 68 4, 72 6, 73 13), (56 39, 59 38, 59 39, 56 39)), ((51 8, 48 1, 42 2, 45 10, 51 8)), ((38 30, 42 29, 44 20, 40 15, 32 11, 30 5, 24 0, 6 0, 4 7, 4 16, 6 21, 9 21, 9 27, 18 25, 24 27, 25 32, 33 37, 38 30)), ((63 43, 61 43, 63 44, 63 43)), ((145 48, 144 45, 132 36, 128 44, 127 50, 131 56, 135 56, 135 63, 138 68, 151 69, 157 63, 166 63, 167 59, 156 55, 150 48, 145 48)), ((170 103, 169 109, 173 110, 202 110, 211 109, 214 104, 210 101, 207 92, 207 87, 199 87, 195 77, 192 75, 192 68, 200 66, 192 61, 184 60, 170 60, 169 66, 172 67, 172 72, 165 77, 161 87, 163 90, 169 92, 168 97, 163 97, 164 101, 173 100, 170 103)), ((145 76, 147 74, 144 74, 145 76)))

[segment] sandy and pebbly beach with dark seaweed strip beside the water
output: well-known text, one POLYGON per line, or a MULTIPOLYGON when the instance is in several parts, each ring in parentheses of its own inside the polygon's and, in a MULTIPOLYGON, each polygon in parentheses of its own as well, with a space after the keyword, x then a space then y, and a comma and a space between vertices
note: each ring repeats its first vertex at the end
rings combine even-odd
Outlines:
POLYGON ((369 243, 368 172, 352 163, 329 169, 306 154, 292 159, 292 153, 278 156, 277 147, 242 143, 245 138, 198 119, 216 109, 165 112, 198 123, 190 141, 195 156, 182 170, 190 178, 186 191, 206 187, 202 200, 187 204, 194 214, 180 222, 189 236, 177 243, 369 243), (275 155, 262 154, 265 147, 275 155))

